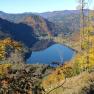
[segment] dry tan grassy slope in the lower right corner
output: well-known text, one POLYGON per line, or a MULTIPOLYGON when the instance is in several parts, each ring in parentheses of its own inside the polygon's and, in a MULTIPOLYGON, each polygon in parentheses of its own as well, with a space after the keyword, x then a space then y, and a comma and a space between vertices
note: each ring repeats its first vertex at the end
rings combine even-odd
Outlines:
POLYGON ((47 91, 47 94, 94 94, 94 72, 67 78, 64 84, 47 91))

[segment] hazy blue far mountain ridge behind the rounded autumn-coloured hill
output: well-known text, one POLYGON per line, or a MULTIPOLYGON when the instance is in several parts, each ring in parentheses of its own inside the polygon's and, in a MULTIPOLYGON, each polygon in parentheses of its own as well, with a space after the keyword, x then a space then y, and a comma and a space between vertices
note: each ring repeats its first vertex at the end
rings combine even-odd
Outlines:
POLYGON ((1 18, 7 19, 12 22, 16 22, 16 23, 22 22, 25 19, 25 17, 28 17, 28 16, 35 15, 40 18, 42 17, 47 21, 47 23, 49 22, 50 25, 52 24, 51 29, 54 29, 53 32, 55 34, 60 34, 60 33, 70 34, 72 32, 79 31, 78 29, 80 24, 79 10, 65 10, 65 11, 54 11, 54 12, 45 12, 45 13, 27 12, 27 13, 20 13, 20 14, 19 13, 18 14, 4 13, 4 15, 1 15, 1 14, 2 12, 0 13, 1 18), (73 25, 71 23, 73 23, 73 25), (71 27, 73 27, 74 30, 71 27))

